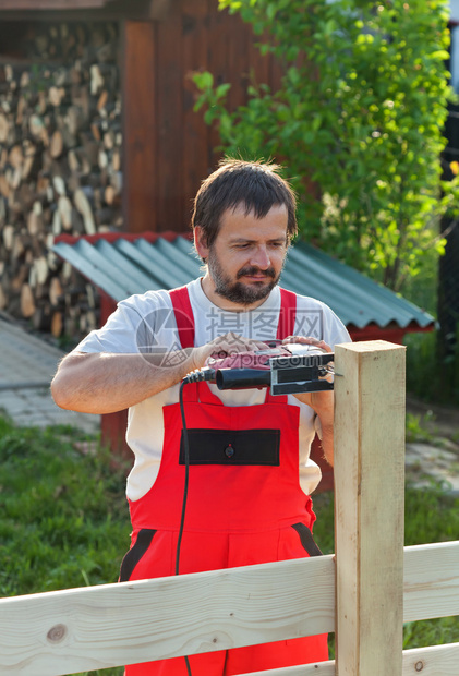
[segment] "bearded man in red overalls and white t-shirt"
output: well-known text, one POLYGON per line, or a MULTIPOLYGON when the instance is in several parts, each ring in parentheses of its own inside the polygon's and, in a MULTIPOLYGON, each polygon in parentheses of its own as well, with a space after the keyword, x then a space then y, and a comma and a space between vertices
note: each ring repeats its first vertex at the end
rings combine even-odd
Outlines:
MULTIPOLYGON (((59 406, 89 413, 130 409, 126 438, 132 545, 123 580, 173 575, 184 491, 179 387, 209 358, 266 349, 273 340, 326 351, 349 335, 323 303, 277 282, 297 231, 295 198, 278 167, 229 159, 202 184, 192 218, 203 278, 119 303, 61 363, 59 406), (314 334, 311 335, 313 327, 314 334)), ((319 432, 333 463, 333 393, 271 396, 183 386, 190 481, 180 572, 319 554, 309 459, 319 432)), ((129 676, 229 676, 328 659, 327 637, 278 641, 126 667, 129 676)))

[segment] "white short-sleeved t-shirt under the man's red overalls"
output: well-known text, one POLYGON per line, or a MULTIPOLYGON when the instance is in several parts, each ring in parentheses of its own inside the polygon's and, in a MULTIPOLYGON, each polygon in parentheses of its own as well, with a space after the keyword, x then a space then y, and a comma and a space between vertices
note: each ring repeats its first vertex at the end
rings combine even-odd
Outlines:
MULTIPOLYGON (((280 309, 280 290, 271 291, 266 301, 249 312, 229 312, 214 305, 205 295, 201 279, 188 285, 195 325, 195 346, 233 331, 245 338, 276 338, 280 309)), ((313 336, 325 340, 331 349, 350 337, 343 324, 324 303, 304 295, 297 297, 295 336, 313 336)), ((75 348, 80 352, 133 353, 180 349, 179 334, 167 291, 147 291, 118 304, 106 325, 92 331, 75 348)), ((212 391, 225 406, 263 403, 266 391, 261 389, 212 391)), ((174 385, 130 408, 126 442, 135 456, 128 478, 126 495, 131 500, 143 497, 153 486, 159 471, 164 442, 162 407, 179 400, 180 385, 174 385)), ((311 494, 321 481, 321 470, 310 459, 310 447, 318 425, 315 413, 293 395, 289 403, 300 408, 300 483, 311 494)))

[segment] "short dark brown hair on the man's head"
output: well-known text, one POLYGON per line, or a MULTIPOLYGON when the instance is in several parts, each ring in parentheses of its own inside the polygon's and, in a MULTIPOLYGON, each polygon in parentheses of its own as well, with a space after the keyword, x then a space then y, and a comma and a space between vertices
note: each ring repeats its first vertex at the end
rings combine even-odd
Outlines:
POLYGON ((253 212, 263 218, 273 206, 287 207, 287 239, 294 237, 297 226, 297 198, 289 183, 279 176, 281 167, 271 162, 244 161, 227 157, 219 168, 202 182, 194 200, 191 220, 193 229, 200 226, 205 245, 210 246, 227 209, 243 205, 245 215, 253 212))

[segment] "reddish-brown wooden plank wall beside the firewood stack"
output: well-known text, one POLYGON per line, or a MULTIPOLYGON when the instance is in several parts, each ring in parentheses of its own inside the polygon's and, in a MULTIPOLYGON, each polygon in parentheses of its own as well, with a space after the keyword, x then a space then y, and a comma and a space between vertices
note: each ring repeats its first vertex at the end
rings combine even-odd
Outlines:
POLYGON ((217 84, 230 82, 234 108, 246 100, 252 71, 259 83, 275 86, 280 79, 280 69, 259 55, 255 41, 239 16, 218 11, 217 0, 178 0, 162 22, 125 23, 128 230, 189 228, 192 200, 219 157, 218 135, 202 111, 193 111, 196 89, 190 74, 209 70, 217 84))

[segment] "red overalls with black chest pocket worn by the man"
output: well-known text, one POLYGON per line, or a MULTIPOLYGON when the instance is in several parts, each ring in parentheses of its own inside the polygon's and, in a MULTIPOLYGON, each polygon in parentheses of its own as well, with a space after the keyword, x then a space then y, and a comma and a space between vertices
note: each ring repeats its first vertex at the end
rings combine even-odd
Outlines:
MULTIPOLYGON (((194 345, 185 288, 170 292, 182 347, 194 345)), ((294 294, 281 290, 277 338, 293 333, 294 294)), ((206 383, 184 386, 190 479, 180 572, 319 555, 312 502, 299 483, 299 408, 266 390, 263 405, 225 407, 206 383)), ((179 403, 164 408, 158 476, 130 502, 131 550, 121 580, 174 575, 184 462, 179 403)), ((230 676, 328 660, 327 636, 191 655, 192 676, 230 676)), ((126 667, 126 676, 186 676, 183 657, 126 667)))

